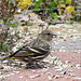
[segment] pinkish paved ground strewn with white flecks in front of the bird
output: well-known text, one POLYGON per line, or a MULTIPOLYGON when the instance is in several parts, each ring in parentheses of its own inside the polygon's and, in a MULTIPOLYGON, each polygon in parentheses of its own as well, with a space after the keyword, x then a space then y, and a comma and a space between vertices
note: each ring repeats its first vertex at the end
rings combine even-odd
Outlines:
POLYGON ((4 70, 2 81, 81 81, 81 53, 52 52, 51 55, 58 57, 54 63, 49 62, 51 67, 4 70))

